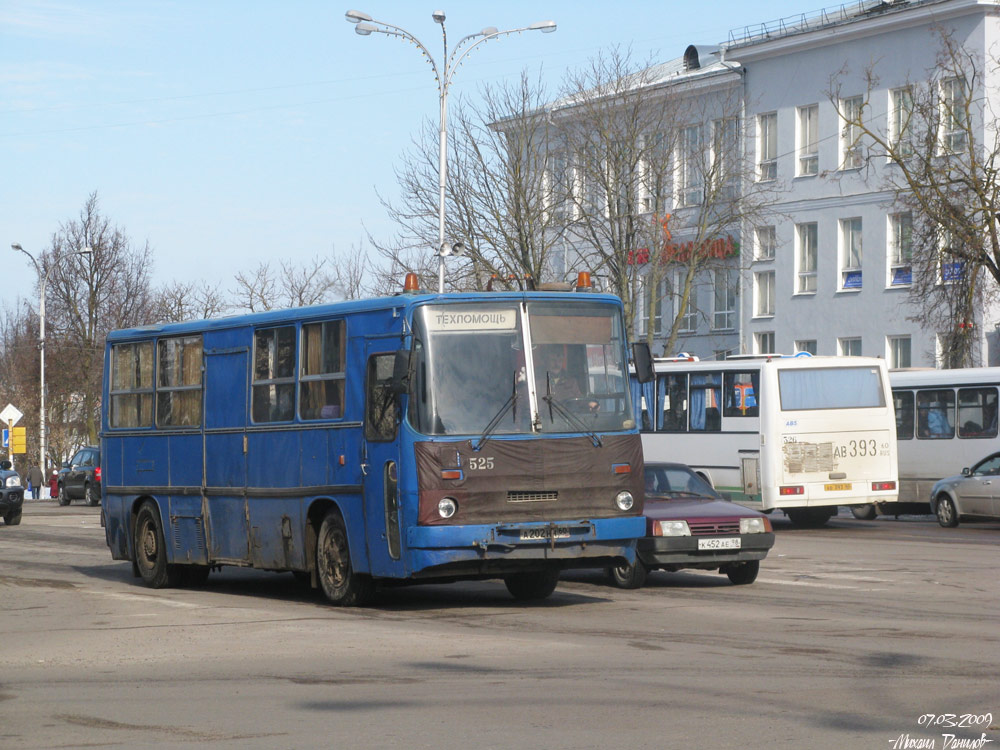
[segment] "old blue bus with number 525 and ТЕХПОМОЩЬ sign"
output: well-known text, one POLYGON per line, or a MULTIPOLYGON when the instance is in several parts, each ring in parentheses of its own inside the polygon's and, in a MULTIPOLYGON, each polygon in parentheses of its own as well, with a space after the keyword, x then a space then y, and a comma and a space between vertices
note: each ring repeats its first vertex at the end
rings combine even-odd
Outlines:
MULTIPOLYGON (((415 284, 408 284, 415 286, 415 284)), ((427 294, 112 332, 111 555, 160 588, 292 571, 333 603, 390 581, 631 562, 642 448, 621 301, 427 294)))

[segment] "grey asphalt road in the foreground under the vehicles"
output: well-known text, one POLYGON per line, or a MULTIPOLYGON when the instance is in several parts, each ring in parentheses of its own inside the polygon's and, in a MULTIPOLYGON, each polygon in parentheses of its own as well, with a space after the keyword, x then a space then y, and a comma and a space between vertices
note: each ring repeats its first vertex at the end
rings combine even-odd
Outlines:
POLYGON ((289 574, 146 589, 98 513, 0 525, 2 748, 1000 747, 1000 524, 775 514, 750 586, 581 572, 533 606, 481 582, 336 609, 289 574))

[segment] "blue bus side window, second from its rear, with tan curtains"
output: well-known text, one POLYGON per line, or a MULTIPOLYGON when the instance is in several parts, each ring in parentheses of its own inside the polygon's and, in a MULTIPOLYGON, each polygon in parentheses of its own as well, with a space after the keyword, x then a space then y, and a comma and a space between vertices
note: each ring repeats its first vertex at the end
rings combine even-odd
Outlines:
POLYGON ((160 339, 156 349, 157 426, 200 426, 201 336, 160 339))

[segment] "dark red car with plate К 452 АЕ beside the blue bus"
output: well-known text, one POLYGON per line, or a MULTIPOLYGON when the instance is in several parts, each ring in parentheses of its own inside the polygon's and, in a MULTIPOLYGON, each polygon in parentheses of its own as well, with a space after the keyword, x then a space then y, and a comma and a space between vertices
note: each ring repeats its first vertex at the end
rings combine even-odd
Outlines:
POLYGON ((774 546, 763 513, 724 500, 684 464, 646 464, 646 536, 634 565, 610 570, 619 588, 637 589, 651 570, 718 570, 736 584, 753 583, 774 546))

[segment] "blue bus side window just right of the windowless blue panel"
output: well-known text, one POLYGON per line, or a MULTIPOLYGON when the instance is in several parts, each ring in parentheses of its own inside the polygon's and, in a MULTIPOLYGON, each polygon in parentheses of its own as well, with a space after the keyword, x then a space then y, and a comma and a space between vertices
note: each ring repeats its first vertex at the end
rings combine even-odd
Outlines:
POLYGON ((254 331, 251 413, 258 423, 295 417, 295 326, 254 331))

